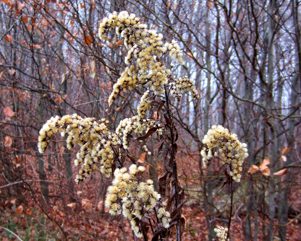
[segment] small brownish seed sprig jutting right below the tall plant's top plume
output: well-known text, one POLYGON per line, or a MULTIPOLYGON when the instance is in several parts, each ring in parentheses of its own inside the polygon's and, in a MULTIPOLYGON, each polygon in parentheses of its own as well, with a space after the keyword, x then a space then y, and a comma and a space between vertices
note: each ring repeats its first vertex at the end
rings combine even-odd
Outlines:
POLYGON ((191 80, 188 79, 187 76, 183 76, 178 79, 175 78, 172 83, 172 95, 179 102, 182 95, 180 93, 184 93, 189 91, 191 93, 192 99, 198 99, 199 95, 197 94, 197 90, 194 88, 194 84, 191 80))

